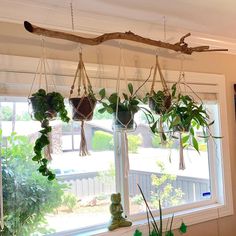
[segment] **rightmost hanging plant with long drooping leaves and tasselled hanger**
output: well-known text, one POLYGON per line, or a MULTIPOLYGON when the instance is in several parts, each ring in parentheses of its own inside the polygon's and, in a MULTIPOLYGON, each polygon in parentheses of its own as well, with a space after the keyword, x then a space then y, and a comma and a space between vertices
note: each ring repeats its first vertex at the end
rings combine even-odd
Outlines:
MULTIPOLYGON (((170 137, 179 139, 179 168, 185 169, 183 160, 184 148, 191 146, 199 152, 198 138, 220 137, 211 134, 210 126, 214 124, 214 121, 210 120, 208 111, 201 99, 199 98, 199 103, 189 95, 176 94, 176 86, 177 84, 172 86, 172 105, 162 116, 162 122, 167 125, 170 137), (196 131, 200 129, 203 135, 198 136, 196 131), (176 134, 178 134, 178 137, 176 137, 176 134)), ((185 84, 185 86, 188 85, 185 84)))

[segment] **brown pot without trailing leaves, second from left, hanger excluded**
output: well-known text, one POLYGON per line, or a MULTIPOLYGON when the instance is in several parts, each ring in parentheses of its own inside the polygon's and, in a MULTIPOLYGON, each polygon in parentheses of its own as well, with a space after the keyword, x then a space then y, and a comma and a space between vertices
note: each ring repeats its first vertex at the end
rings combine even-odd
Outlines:
POLYGON ((89 96, 82 98, 70 98, 69 102, 73 108, 72 119, 74 121, 92 120, 93 111, 97 103, 95 99, 89 96))

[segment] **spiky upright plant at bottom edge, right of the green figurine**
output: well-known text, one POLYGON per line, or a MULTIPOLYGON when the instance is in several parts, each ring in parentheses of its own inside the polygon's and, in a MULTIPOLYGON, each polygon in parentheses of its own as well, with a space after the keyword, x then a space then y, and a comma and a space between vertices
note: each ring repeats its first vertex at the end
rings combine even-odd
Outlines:
MULTIPOLYGON (((161 201, 159 200, 159 219, 158 219, 159 223, 158 223, 157 219, 154 217, 153 212, 148 205, 148 202, 139 184, 138 184, 138 188, 140 190, 140 193, 142 195, 142 198, 146 207, 146 215, 147 215, 147 222, 148 222, 148 236, 174 236, 174 232, 172 230, 174 214, 172 215, 170 221, 168 219, 167 225, 164 229, 161 201)), ((184 222, 182 222, 182 224, 180 225, 179 231, 182 234, 187 232, 187 226, 184 224, 184 222)), ((142 236, 142 232, 139 230, 136 230, 134 232, 134 236, 142 236)))

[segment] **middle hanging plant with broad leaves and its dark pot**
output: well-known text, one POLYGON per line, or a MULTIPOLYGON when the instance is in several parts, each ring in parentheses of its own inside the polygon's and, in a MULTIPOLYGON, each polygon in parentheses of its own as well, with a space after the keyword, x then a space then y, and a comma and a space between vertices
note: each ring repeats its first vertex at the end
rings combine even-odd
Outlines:
POLYGON ((112 93, 107 96, 106 90, 103 88, 99 91, 101 96, 100 102, 102 108, 98 110, 99 113, 108 112, 114 115, 115 125, 123 126, 124 128, 132 128, 134 124, 134 114, 139 110, 143 111, 149 124, 154 123, 153 114, 145 107, 141 106, 142 101, 137 97, 137 91, 134 91, 132 83, 128 84, 128 92, 119 94, 112 93))

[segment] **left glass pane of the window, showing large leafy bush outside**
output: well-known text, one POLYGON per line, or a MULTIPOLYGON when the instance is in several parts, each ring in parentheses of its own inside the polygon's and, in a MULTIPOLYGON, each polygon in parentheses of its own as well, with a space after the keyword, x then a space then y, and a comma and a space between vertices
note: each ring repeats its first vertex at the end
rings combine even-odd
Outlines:
MULTIPOLYGON (((11 107, 14 113, 13 103, 2 102, 1 107, 5 106, 11 107)), ((50 122, 53 158, 50 166, 57 180, 49 182, 38 173, 37 163, 31 161, 40 124, 28 120, 27 103, 15 103, 15 112, 18 117, 15 122, 1 122, 5 140, 2 144, 8 150, 4 154, 6 232, 11 232, 9 235, 27 236, 34 232, 44 235, 107 223, 110 194, 115 192, 111 117, 102 117, 95 111, 94 119, 86 122, 90 155, 85 157, 79 156, 78 151, 80 122, 66 126, 59 120, 50 122), (12 127, 21 137, 9 138, 12 127)), ((3 113, 6 116, 6 111, 3 113)))

